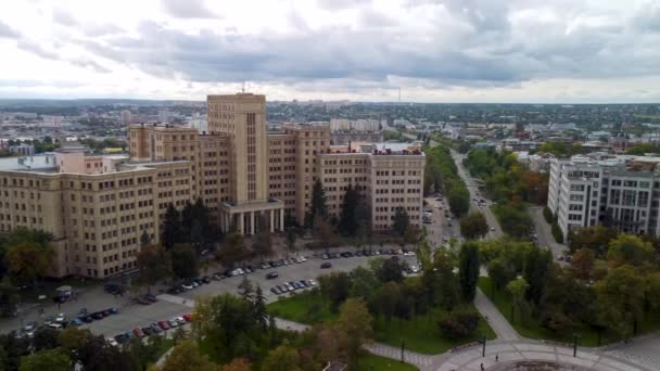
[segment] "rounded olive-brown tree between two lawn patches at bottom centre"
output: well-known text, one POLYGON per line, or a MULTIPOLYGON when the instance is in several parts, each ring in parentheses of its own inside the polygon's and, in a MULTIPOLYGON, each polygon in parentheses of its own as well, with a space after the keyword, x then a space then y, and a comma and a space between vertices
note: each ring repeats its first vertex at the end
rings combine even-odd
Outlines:
POLYGON ((348 355, 348 366, 357 366, 360 349, 373 336, 373 318, 361 298, 350 298, 340 308, 337 321, 340 344, 348 355))

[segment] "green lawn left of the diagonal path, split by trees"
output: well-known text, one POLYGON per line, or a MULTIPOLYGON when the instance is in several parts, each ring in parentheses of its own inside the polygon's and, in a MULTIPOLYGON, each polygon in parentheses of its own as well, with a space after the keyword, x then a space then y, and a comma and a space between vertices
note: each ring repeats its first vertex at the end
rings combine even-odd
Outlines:
MULTIPOLYGON (((472 306, 470 308, 474 309, 472 306)), ((322 297, 318 292, 307 292, 281 298, 278 302, 268 304, 268 310, 276 317, 307 324, 331 322, 338 317, 337 314, 332 314, 329 310, 328 305, 322 302, 322 297), (316 309, 309 310, 309 308, 316 309)), ((377 318, 373 323, 373 337, 377 342, 395 347, 401 346, 403 338, 406 349, 431 355, 447 351, 452 347, 479 338, 479 334, 459 341, 443 338, 440 336, 440 331, 435 325, 435 319, 441 314, 441 310, 435 310, 432 314, 429 312, 404 321, 394 318, 390 323, 384 318, 377 318)), ((480 322, 479 331, 485 333, 487 338, 495 338, 495 333, 485 321, 480 322)))

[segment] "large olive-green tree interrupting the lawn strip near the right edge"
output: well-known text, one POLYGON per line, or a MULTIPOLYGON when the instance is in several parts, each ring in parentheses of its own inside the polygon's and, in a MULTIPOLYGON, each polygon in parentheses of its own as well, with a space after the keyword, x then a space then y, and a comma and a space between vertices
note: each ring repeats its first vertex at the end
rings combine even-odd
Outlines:
POLYGON ((644 310, 644 280, 632 266, 613 269, 596 283, 598 314, 604 323, 624 337, 633 335, 644 310))

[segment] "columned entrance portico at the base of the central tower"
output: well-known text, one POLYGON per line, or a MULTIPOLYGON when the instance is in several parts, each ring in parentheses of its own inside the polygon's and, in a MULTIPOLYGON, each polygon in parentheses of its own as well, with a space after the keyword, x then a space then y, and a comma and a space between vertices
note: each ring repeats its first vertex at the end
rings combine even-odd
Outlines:
POLYGON ((228 232, 232 228, 241 234, 255 234, 259 228, 271 232, 284 230, 284 203, 271 199, 267 202, 220 205, 220 229, 228 232), (262 220, 262 221, 259 221, 262 220), (261 226, 261 223, 264 226, 261 226))

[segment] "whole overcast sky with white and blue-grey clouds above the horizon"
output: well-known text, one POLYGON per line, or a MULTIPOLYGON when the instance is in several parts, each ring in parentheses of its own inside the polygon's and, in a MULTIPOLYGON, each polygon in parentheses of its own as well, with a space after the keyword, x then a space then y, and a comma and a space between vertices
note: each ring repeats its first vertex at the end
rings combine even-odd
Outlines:
POLYGON ((0 98, 660 102, 660 0, 0 1, 0 98))

